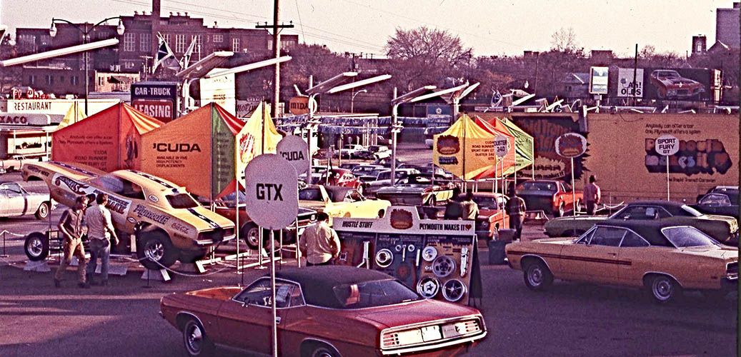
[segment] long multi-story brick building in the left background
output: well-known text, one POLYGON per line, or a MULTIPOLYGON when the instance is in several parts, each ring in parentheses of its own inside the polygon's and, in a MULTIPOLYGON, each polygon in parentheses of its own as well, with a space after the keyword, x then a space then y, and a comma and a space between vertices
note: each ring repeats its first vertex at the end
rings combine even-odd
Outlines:
MULTIPOLYGON (((50 36, 48 28, 18 28, 16 30, 16 54, 40 53, 84 42, 118 39, 119 44, 89 51, 88 71, 89 90, 94 90, 96 72, 142 73, 147 79, 153 65, 153 49, 157 44, 157 33, 167 41, 176 57, 181 58, 191 41, 196 41, 190 57, 192 64, 215 51, 242 53, 250 59, 265 59, 273 54, 273 37, 265 30, 244 28, 222 28, 214 23, 207 27, 203 19, 192 18, 188 13, 170 13, 159 17, 156 32, 152 27, 150 13, 135 12, 133 16, 121 16, 124 25, 123 35, 116 33, 117 20, 109 24, 56 23, 56 36, 50 36), (87 39, 84 33, 88 33, 87 39)), ((298 44, 297 35, 282 35, 282 48, 298 44)), ((57 97, 73 94, 84 96, 85 60, 84 53, 57 57, 26 64, 23 67, 22 85, 54 93, 57 97)), ((158 76, 163 70, 158 69, 158 76)), ((167 71, 167 70, 164 70, 167 71)), ((170 70, 167 75, 174 74, 170 70)))

